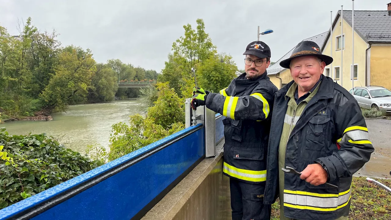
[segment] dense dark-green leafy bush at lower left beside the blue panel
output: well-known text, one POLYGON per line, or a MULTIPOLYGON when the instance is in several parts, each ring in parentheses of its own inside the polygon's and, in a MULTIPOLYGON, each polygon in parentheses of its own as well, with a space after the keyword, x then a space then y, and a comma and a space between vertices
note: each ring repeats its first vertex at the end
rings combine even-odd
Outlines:
POLYGON ((0 130, 0 209, 100 165, 45 133, 8 135, 0 130))

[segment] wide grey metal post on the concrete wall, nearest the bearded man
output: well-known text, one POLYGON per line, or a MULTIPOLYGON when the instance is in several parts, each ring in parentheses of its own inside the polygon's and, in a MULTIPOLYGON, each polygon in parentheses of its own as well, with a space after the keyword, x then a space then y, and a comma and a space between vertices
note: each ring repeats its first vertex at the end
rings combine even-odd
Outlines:
POLYGON ((205 107, 205 157, 216 155, 216 113, 205 107))

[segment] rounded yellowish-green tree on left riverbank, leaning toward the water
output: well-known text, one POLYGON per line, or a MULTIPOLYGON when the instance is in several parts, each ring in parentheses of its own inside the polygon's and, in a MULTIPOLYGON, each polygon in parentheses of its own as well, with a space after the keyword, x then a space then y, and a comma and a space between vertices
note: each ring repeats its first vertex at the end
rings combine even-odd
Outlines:
POLYGON ((69 104, 83 103, 96 71, 89 49, 68 46, 59 54, 56 75, 50 79, 41 97, 49 109, 65 110, 69 104))

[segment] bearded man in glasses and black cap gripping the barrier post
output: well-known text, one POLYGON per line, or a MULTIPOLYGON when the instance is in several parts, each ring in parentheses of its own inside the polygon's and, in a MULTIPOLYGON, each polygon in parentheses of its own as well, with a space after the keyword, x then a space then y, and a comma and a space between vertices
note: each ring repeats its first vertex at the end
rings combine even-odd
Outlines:
POLYGON ((277 88, 267 76, 270 49, 250 43, 243 55, 245 70, 220 93, 194 88, 192 107, 205 105, 227 118, 224 124, 224 175, 230 177, 232 219, 270 219, 264 205, 267 142, 277 88))

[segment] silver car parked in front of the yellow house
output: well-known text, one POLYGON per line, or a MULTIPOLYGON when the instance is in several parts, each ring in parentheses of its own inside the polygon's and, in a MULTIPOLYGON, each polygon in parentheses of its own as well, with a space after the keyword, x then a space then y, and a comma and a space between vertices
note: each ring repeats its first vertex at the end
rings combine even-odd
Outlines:
MULTIPOLYGON (((352 94, 352 89, 350 89, 352 94)), ((380 86, 354 87, 355 99, 362 108, 391 113, 391 91, 380 86)))

